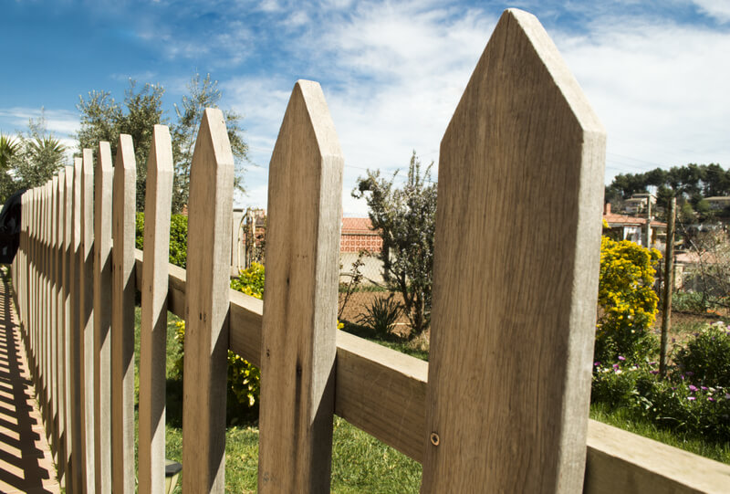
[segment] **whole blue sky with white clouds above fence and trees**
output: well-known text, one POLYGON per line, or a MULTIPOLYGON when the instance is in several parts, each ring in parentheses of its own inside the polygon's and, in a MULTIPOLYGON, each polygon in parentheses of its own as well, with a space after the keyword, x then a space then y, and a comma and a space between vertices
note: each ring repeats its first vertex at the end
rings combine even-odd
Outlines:
MULTIPOLYGON (((730 167, 730 0, 287 2, 5 0, 0 131, 47 126, 73 143, 76 103, 123 98, 128 80, 161 84, 165 106, 197 70, 245 119, 248 194, 266 207, 267 167, 297 79, 324 90, 349 191, 366 168, 403 168, 439 142, 502 11, 535 14, 608 131, 606 180, 657 166, 730 167)), ((435 172, 435 171, 434 171, 435 172)), ((435 178, 435 173, 434 173, 435 178)))

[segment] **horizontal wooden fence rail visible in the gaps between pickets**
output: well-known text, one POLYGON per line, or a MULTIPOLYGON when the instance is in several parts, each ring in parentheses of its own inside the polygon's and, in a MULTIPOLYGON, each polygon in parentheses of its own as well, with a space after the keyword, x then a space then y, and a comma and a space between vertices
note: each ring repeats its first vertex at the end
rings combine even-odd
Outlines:
MULTIPOLYGON (((141 250, 136 260, 141 273, 141 250)), ((184 318, 185 270, 172 264, 168 310, 184 318)), ((229 348, 255 365, 261 362, 263 313, 262 300, 231 290, 229 348)), ((339 331, 336 375, 337 415, 422 462, 428 363, 339 331)), ((585 493, 721 493, 728 486, 730 466, 589 421, 585 493)))

